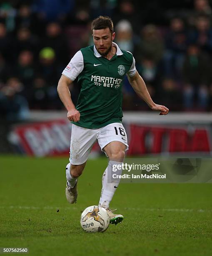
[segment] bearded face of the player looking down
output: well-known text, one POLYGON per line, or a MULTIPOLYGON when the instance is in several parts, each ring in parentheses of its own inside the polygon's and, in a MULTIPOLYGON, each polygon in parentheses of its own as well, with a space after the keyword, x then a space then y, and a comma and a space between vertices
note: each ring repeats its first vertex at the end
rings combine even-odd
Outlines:
POLYGON ((115 33, 111 34, 109 28, 93 29, 93 41, 99 54, 107 56, 112 48, 115 33))

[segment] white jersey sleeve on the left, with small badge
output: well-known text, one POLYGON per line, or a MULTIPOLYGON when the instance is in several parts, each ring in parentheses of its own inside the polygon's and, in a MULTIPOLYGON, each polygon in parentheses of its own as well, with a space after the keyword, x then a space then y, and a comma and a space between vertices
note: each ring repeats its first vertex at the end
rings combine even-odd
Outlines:
POLYGON ((81 51, 77 53, 70 60, 67 67, 63 70, 62 74, 74 81, 84 69, 83 55, 81 51))

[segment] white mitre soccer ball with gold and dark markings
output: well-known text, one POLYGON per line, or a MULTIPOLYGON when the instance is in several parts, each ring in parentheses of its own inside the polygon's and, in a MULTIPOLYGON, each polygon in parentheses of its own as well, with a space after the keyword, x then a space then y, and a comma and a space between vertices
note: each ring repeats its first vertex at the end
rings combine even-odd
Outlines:
POLYGON ((110 224, 110 217, 105 208, 92 205, 82 212, 80 224, 86 232, 103 232, 110 224))

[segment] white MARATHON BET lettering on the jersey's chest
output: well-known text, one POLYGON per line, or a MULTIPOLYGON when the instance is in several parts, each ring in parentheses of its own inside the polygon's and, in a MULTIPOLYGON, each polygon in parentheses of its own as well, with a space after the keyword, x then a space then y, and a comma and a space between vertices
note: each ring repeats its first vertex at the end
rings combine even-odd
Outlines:
POLYGON ((94 82, 95 85, 100 86, 103 84, 104 87, 110 87, 118 89, 122 82, 120 78, 114 77, 101 77, 101 76, 91 76, 91 81, 94 82))

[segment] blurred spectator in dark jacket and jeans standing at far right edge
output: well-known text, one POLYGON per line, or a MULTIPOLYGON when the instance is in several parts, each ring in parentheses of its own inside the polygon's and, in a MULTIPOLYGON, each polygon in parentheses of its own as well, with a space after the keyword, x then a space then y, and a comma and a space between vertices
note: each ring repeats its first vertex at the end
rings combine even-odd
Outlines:
POLYGON ((190 45, 183 64, 184 107, 186 110, 207 110, 210 61, 197 45, 190 45))

